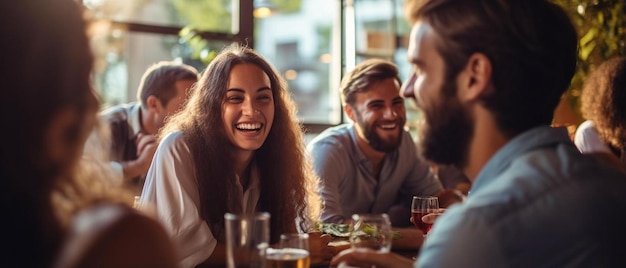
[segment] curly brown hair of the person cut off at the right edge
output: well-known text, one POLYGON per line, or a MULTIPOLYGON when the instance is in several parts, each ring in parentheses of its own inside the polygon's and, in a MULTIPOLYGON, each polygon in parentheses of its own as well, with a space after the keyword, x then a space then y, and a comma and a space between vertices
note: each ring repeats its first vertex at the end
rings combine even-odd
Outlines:
POLYGON ((609 59, 589 74, 581 104, 583 116, 613 151, 626 148, 626 57, 609 59))

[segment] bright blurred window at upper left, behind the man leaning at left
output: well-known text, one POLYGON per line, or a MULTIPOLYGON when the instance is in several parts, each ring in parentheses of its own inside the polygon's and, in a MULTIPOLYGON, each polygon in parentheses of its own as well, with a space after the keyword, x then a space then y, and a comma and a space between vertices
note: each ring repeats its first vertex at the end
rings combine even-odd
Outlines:
POLYGON ((83 0, 104 106, 136 101, 143 72, 175 60, 202 71, 231 42, 252 40, 246 0, 83 0), (247 16, 246 16, 247 15, 247 16))

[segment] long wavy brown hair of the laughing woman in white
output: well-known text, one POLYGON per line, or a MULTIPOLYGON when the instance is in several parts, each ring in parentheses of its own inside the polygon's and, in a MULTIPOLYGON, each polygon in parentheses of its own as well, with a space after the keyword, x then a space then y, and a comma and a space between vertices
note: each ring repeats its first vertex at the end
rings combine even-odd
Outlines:
POLYGON ((276 242, 281 233, 312 227, 321 203, 295 104, 285 81, 261 55, 239 44, 226 47, 202 73, 184 110, 168 120, 159 137, 177 130, 184 133, 195 163, 200 215, 213 236, 224 242, 224 214, 242 209, 241 201, 233 200, 237 189, 235 147, 225 134, 222 105, 232 68, 244 63, 267 74, 274 95, 274 123, 253 161, 260 173, 257 210, 270 213, 271 241, 276 242))

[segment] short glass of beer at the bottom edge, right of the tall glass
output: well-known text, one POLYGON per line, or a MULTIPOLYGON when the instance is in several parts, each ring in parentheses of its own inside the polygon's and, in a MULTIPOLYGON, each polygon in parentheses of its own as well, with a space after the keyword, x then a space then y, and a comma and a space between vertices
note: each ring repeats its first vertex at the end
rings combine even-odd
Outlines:
POLYGON ((280 235, 278 248, 268 248, 265 254, 268 268, 309 268, 309 235, 289 233, 280 235))

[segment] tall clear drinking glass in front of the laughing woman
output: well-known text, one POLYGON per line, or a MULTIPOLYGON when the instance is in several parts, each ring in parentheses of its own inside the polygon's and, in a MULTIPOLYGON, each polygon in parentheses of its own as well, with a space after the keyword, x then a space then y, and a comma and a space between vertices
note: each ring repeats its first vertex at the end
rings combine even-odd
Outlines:
POLYGON ((265 250, 270 238, 270 214, 224 214, 226 264, 228 268, 265 267, 265 250))

